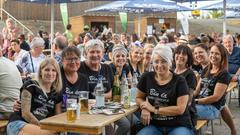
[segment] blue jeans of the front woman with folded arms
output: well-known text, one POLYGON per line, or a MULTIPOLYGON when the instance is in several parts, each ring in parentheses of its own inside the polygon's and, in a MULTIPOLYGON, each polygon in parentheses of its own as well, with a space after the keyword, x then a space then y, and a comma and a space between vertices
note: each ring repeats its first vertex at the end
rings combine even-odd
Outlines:
POLYGON ((137 135, 194 135, 194 132, 187 127, 157 127, 149 125, 140 130, 137 135))

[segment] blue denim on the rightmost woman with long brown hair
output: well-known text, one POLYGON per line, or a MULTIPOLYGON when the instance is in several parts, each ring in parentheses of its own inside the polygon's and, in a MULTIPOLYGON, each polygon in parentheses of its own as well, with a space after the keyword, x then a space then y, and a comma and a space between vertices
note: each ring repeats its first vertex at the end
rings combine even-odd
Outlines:
POLYGON ((219 117, 220 111, 213 105, 196 105, 199 119, 214 120, 219 117))

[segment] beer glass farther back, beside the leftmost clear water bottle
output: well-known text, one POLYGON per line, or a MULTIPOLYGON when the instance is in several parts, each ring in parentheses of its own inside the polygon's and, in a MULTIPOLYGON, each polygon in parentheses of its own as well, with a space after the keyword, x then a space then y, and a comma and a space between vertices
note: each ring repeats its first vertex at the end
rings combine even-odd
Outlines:
POLYGON ((79 92, 79 102, 80 102, 80 112, 88 113, 88 91, 80 91, 79 92))

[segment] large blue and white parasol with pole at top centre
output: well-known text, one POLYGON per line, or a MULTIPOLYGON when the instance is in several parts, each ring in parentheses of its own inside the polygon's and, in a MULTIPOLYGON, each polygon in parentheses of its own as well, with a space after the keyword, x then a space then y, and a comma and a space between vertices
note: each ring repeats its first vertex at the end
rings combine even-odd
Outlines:
POLYGON ((99 7, 88 9, 85 12, 138 13, 138 35, 140 36, 141 13, 176 12, 182 10, 191 9, 177 5, 176 2, 169 0, 129 0, 129 1, 115 1, 99 7))

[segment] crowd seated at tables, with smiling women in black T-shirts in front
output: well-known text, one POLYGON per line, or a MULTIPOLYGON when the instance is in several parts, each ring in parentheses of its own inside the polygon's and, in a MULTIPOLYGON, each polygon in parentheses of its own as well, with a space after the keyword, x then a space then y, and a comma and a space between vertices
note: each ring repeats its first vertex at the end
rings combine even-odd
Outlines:
MULTIPOLYGON (((0 119, 9 120, 8 135, 57 134, 40 129, 39 121, 66 111, 64 98, 78 98, 80 91, 88 91, 94 99, 99 79, 105 99, 111 100, 113 76, 121 78, 123 73, 138 78, 140 115, 134 115, 133 126, 143 126, 137 135, 194 135, 197 119, 212 120, 220 115, 231 135, 237 134, 225 105, 228 84, 239 81, 240 75, 240 48, 231 35, 222 42, 209 35, 164 34, 143 40, 111 31, 98 35, 85 33, 83 42, 68 45, 67 37, 58 33, 52 45, 53 58, 43 54, 41 37, 31 40, 30 51, 22 50, 18 39, 11 39, 14 53, 8 58, 0 46, 0 119), (170 37, 175 42, 170 42, 170 37), (25 78, 31 73, 35 79, 25 78)), ((116 121, 116 131, 106 133, 128 134, 130 120, 126 116, 116 121)))

